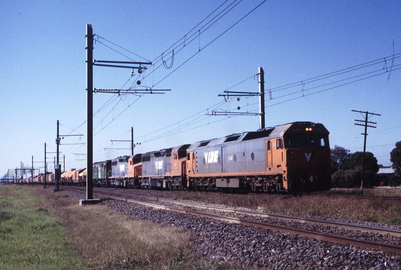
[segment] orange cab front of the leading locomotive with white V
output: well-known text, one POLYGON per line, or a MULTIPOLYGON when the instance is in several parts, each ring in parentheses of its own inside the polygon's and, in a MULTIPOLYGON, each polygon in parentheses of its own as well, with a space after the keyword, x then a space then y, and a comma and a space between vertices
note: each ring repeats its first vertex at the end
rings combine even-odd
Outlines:
MULTIPOLYGON (((269 165, 285 156, 283 187, 288 190, 327 190, 331 183, 329 132, 320 123, 294 122, 280 138, 283 148, 272 146, 269 165)), ((277 139, 276 139, 277 143, 277 139)), ((266 142, 268 144, 268 140, 266 142)), ((273 141, 274 144, 274 141, 273 141)))

